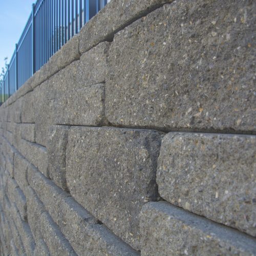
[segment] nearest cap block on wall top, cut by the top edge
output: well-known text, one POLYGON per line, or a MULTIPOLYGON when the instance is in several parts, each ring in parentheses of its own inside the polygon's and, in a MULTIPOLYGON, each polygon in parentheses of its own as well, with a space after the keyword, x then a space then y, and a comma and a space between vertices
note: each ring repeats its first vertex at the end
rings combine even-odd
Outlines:
POLYGON ((117 31, 134 20, 171 2, 173 0, 112 0, 81 29, 80 52, 88 51, 99 42, 112 40, 117 31))

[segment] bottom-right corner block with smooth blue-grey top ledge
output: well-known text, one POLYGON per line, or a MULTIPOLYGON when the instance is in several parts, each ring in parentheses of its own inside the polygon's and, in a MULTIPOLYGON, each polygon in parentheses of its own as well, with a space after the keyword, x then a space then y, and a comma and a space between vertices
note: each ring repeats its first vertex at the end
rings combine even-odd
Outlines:
POLYGON ((255 239, 167 202, 140 215, 141 255, 253 255, 255 239))

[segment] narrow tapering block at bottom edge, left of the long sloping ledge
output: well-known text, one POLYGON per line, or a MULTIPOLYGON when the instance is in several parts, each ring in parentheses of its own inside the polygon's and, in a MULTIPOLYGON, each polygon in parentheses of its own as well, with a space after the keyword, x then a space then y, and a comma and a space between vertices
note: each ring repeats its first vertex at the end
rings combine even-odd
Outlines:
POLYGON ((77 255, 47 212, 40 217, 42 236, 51 255, 77 255))

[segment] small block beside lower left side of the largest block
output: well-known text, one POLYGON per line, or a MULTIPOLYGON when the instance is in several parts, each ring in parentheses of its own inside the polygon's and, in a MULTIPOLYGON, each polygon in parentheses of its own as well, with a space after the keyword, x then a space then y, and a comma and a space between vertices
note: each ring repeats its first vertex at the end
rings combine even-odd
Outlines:
POLYGON ((59 96, 54 123, 99 126, 105 121, 105 84, 95 84, 59 96))

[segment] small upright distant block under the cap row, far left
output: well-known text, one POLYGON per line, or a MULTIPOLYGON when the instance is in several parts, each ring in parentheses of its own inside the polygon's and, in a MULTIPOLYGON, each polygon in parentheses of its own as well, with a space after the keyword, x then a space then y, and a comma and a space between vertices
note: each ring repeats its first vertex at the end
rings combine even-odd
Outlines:
POLYGON ((27 93, 22 98, 22 122, 34 123, 35 122, 35 105, 37 98, 34 92, 27 93))

